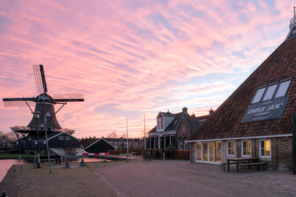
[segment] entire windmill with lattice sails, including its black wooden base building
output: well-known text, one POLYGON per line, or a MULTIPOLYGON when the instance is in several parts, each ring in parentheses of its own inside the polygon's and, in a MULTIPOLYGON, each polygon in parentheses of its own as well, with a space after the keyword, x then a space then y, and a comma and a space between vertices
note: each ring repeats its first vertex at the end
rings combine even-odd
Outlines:
POLYGON ((79 148, 79 139, 72 134, 75 130, 62 128, 56 118, 56 113, 67 102, 84 101, 82 94, 54 94, 52 97, 47 94, 47 86, 43 65, 33 65, 33 71, 40 95, 36 97, 23 98, 3 98, 5 107, 35 106, 34 112, 41 114, 41 118, 36 119, 33 115, 32 120, 27 126, 10 127, 16 133, 18 140, 15 142, 15 149, 23 149, 26 153, 36 153, 37 145, 41 149, 41 154, 46 153, 46 135, 48 134, 48 145, 51 150, 57 148, 79 148), (61 104, 59 110, 54 110, 54 105, 61 104), (38 125, 38 126, 37 126, 38 125), (37 132, 38 128, 38 132, 37 132), (40 140, 37 142, 37 133, 40 140))

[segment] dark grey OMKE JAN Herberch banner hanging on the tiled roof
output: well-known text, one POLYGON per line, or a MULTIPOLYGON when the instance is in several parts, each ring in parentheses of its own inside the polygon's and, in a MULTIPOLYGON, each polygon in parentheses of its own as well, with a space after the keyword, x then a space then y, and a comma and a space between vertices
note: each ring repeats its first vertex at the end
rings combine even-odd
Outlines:
POLYGON ((290 96, 267 100, 248 107, 240 123, 281 118, 290 96))

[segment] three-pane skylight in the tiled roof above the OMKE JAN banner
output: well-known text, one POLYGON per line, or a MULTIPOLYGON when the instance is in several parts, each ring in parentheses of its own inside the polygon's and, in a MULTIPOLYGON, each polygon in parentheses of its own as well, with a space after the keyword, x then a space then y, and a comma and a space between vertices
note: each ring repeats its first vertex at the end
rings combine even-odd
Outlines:
POLYGON ((280 82, 259 87, 251 104, 286 96, 291 81, 292 79, 285 79, 280 82))

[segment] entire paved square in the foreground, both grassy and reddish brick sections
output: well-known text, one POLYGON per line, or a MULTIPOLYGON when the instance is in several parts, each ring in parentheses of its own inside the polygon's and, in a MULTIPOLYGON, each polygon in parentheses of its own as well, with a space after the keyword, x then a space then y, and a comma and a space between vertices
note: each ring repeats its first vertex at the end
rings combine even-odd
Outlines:
MULTIPOLYGON (((186 160, 86 165, 52 168, 52 174, 47 165, 41 169, 23 165, 20 196, 296 196, 296 176, 292 172, 246 169, 241 174, 236 173, 235 165, 231 172, 222 172, 221 166, 186 160)), ((14 184, 17 187, 19 183, 14 184)))

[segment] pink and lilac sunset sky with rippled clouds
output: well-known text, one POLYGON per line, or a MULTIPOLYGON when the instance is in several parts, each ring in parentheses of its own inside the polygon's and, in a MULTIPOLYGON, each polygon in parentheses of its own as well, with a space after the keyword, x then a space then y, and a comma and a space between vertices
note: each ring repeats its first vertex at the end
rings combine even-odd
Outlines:
MULTIPOLYGON (((1 1, 1 98, 83 93, 57 113, 75 136, 140 137, 159 111, 206 115, 286 38, 291 1, 1 1)), ((55 105, 57 110, 59 105, 55 105)), ((0 105, 0 131, 27 126, 28 107, 0 105)))

